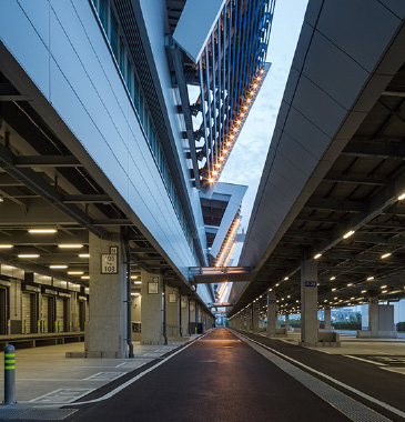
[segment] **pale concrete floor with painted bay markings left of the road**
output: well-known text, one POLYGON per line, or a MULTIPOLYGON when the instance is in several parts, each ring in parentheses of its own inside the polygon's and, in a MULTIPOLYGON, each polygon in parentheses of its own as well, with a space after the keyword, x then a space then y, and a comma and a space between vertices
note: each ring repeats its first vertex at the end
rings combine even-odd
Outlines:
MULTIPOLYGON (((134 343, 134 359, 67 359, 67 352, 84 351, 84 343, 48 345, 16 351, 16 399, 20 404, 71 402, 129 372, 159 359, 179 345, 134 343), (59 390, 64 390, 60 392, 59 390)), ((3 352, 0 354, 3 360, 3 352)), ((3 371, 0 371, 0 400, 3 398, 3 371)))

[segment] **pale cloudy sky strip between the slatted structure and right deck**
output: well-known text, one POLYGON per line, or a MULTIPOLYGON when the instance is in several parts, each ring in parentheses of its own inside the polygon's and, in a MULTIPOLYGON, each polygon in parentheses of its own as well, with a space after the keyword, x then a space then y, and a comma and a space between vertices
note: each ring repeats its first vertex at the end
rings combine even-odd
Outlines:
POLYGON ((244 231, 249 225, 306 4, 307 0, 276 0, 266 58, 272 67, 221 174, 221 182, 249 187, 242 203, 241 227, 244 231))

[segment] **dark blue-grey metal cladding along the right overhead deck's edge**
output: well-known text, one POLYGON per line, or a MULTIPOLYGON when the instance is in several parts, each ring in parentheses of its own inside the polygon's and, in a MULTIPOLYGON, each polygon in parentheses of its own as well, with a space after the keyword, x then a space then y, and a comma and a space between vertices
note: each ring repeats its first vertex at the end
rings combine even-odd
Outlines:
POLYGON ((385 53, 401 24, 378 1, 310 1, 239 265, 257 270, 265 262, 385 77, 396 72, 403 58, 386 60, 385 53))

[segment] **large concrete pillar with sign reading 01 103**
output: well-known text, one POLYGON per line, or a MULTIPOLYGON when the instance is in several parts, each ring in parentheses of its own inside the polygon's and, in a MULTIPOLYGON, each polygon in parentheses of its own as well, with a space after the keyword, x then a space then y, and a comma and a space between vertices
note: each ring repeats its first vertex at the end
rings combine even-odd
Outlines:
POLYGON ((91 304, 88 358, 125 358, 126 269, 120 233, 111 234, 111 240, 89 233, 89 252, 91 304), (114 261, 110 261, 107 268, 101 254, 110 254, 114 261), (102 273, 105 271, 111 272, 102 273))

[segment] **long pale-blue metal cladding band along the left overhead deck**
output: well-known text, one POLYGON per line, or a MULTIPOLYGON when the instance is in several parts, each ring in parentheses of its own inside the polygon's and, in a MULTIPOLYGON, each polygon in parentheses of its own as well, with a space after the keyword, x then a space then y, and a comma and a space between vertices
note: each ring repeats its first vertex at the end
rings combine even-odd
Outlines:
MULTIPOLYGON (((75 137, 62 140, 81 153, 90 172, 95 162, 111 182, 103 187, 107 192, 126 202, 134 219, 188 277, 188 268, 196 264, 194 255, 90 2, 51 1, 48 31, 43 20, 37 31, 40 18, 30 21, 13 0, 2 6, 2 17, 0 40, 47 99, 32 105, 51 128, 59 128, 53 110, 59 114, 75 137), (40 38, 45 32, 51 51, 40 38)), ((31 81, 23 83, 31 89, 31 81)))

